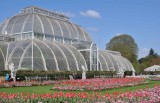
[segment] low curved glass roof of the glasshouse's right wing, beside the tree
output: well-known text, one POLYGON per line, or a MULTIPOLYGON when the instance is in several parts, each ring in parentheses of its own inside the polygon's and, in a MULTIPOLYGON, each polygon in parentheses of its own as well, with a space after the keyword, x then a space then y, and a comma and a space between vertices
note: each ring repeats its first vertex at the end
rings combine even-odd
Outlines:
POLYGON ((120 55, 114 55, 113 52, 106 50, 99 50, 99 63, 100 70, 110 71, 115 70, 117 72, 123 71, 135 71, 132 64, 126 58, 120 55))

